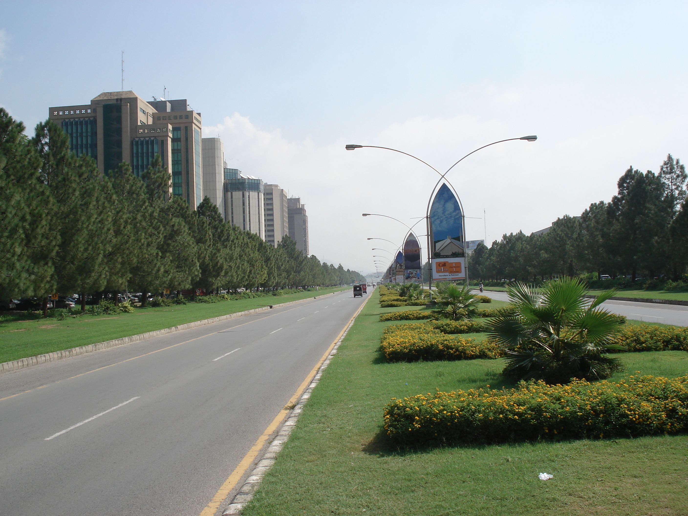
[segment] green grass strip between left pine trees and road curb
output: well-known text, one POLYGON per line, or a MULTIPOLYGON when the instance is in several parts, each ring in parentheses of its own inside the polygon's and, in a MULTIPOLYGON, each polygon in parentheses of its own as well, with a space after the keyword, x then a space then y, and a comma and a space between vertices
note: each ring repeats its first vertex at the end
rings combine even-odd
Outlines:
POLYGON ((256 297, 218 303, 189 303, 160 308, 137 308, 133 314, 83 315, 76 319, 32 319, 30 321, 0 320, 0 363, 68 350, 114 338, 161 330, 202 319, 261 308, 266 305, 288 303, 328 292, 345 290, 341 287, 321 288, 319 291, 285 294, 278 297, 256 297))

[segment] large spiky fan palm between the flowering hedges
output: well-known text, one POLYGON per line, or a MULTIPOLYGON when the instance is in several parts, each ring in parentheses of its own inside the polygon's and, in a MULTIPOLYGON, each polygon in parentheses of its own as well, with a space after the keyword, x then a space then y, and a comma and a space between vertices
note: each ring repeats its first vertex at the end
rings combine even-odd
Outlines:
POLYGON ((550 281, 540 292, 525 283, 506 288, 513 314, 488 323, 489 336, 506 348, 504 374, 555 383, 608 378, 623 369, 618 358, 606 354, 625 349, 610 344, 621 323, 598 308, 615 291, 591 302, 584 297, 585 288, 578 278, 550 281))

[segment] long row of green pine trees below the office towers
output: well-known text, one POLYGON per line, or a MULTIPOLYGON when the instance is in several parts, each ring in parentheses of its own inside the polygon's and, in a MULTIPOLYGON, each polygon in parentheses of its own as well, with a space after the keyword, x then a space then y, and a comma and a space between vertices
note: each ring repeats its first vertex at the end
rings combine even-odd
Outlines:
POLYGON ((160 156, 142 174, 128 163, 106 177, 76 158, 54 122, 35 136, 0 108, 0 297, 163 289, 331 286, 363 279, 277 248, 224 222, 208 197, 169 195, 160 156))

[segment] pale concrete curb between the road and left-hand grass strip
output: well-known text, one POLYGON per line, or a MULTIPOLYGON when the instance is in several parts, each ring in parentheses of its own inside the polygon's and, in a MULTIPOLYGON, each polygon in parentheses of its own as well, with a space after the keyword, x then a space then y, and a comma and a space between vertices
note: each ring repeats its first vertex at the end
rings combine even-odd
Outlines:
MULTIPOLYGON (((343 291, 340 290, 338 292, 343 291)), ((332 294, 336 294, 336 292, 330 292, 329 294, 323 294, 321 296, 307 297, 305 299, 298 299, 297 301, 289 301, 288 303, 279 303, 278 305, 266 305, 263 308, 253 308, 252 310, 244 310, 244 312, 236 312, 235 314, 221 315, 213 317, 211 319, 202 319, 202 321, 194 321, 193 323, 180 324, 178 326, 163 328, 162 330, 153 330, 152 332, 140 333, 138 335, 115 338, 112 341, 105 341, 96 344, 72 347, 69 350, 55 351, 52 353, 45 353, 42 355, 30 356, 28 358, 19 358, 19 360, 1 363, 0 374, 8 373, 10 371, 16 371, 17 369, 24 369, 25 367, 31 367, 32 365, 39 365, 44 364, 46 362, 62 360, 63 358, 71 358, 72 356, 83 355, 85 353, 107 350, 109 347, 121 346, 125 344, 130 344, 132 342, 144 341, 147 338, 158 337, 160 335, 166 335, 174 332, 181 332, 182 330, 189 330, 191 328, 204 326, 206 324, 219 323, 219 321, 235 319, 236 317, 241 317, 244 315, 255 314, 257 312, 265 312, 266 310, 270 310, 272 308, 293 305, 295 303, 303 303, 303 301, 308 301, 309 299, 319 299, 321 297, 331 296, 332 294)))

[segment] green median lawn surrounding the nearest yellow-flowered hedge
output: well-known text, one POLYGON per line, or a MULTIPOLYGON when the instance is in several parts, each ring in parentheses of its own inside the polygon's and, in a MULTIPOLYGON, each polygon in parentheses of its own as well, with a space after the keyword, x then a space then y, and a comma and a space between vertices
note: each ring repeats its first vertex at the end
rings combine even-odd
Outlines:
MULTIPOLYGON (((373 294, 245 516, 686 515, 688 436, 399 451, 390 398, 510 387, 502 360, 385 363, 373 294), (538 473, 555 475, 541 481, 538 473)), ((619 355, 627 372, 688 373, 685 352, 619 355)), ((622 375, 617 375, 620 377, 622 375)))

